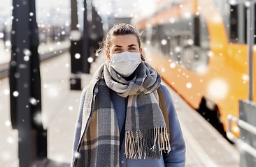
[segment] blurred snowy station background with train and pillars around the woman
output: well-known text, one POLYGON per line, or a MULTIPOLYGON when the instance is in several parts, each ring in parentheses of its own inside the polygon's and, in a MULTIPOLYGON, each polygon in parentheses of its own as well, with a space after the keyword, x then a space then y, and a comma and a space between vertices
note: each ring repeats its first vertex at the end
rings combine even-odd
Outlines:
POLYGON ((120 22, 143 31, 147 61, 169 88, 185 166, 256 166, 255 1, 36 0, 29 11, 24 1, 0 6, 0 166, 70 166, 80 93, 120 22))

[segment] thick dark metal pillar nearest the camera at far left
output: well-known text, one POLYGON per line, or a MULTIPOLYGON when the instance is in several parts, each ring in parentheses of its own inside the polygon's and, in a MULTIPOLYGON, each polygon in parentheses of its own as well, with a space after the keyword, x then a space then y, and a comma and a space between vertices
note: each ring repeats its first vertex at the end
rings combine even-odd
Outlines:
POLYGON ((10 116, 18 130, 20 167, 47 157, 47 132, 41 120, 41 77, 35 0, 13 0, 10 61, 10 116))

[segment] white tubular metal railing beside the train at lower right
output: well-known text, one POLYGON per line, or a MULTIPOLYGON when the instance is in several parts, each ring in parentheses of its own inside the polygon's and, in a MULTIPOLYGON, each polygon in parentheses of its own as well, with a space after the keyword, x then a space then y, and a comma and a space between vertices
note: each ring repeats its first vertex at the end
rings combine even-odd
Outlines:
POLYGON ((240 128, 245 129, 246 131, 255 135, 256 135, 256 127, 254 127, 253 125, 250 125, 248 122, 245 122, 243 120, 240 120, 239 118, 232 116, 231 114, 227 116, 227 119, 228 119, 227 137, 229 138, 229 140, 233 141, 237 146, 239 146, 239 148, 245 150, 246 152, 248 152, 248 154, 251 154, 253 157, 256 158, 256 149, 248 145, 247 143, 243 142, 240 138, 237 138, 236 136, 234 136, 234 134, 232 134, 231 122, 236 122, 240 128))

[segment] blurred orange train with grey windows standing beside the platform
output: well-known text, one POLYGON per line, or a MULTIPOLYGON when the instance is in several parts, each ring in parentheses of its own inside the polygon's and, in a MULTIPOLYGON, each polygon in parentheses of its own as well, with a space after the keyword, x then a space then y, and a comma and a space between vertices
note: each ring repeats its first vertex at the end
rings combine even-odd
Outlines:
MULTIPOLYGON (((215 112, 224 129, 228 114, 239 118, 239 100, 249 94, 245 6, 225 0, 161 0, 152 13, 131 24, 146 29, 148 61, 188 104, 215 112)), ((232 132, 239 135, 237 125, 232 132)))

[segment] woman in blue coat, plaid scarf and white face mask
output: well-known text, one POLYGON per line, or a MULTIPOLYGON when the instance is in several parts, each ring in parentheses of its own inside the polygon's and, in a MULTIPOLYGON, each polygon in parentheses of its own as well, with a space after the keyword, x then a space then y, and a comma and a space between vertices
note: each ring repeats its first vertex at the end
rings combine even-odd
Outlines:
POLYGON ((145 62, 138 31, 117 24, 103 45, 108 61, 83 89, 71 166, 185 166, 171 95, 145 62), (159 107, 159 88, 167 118, 159 107))

